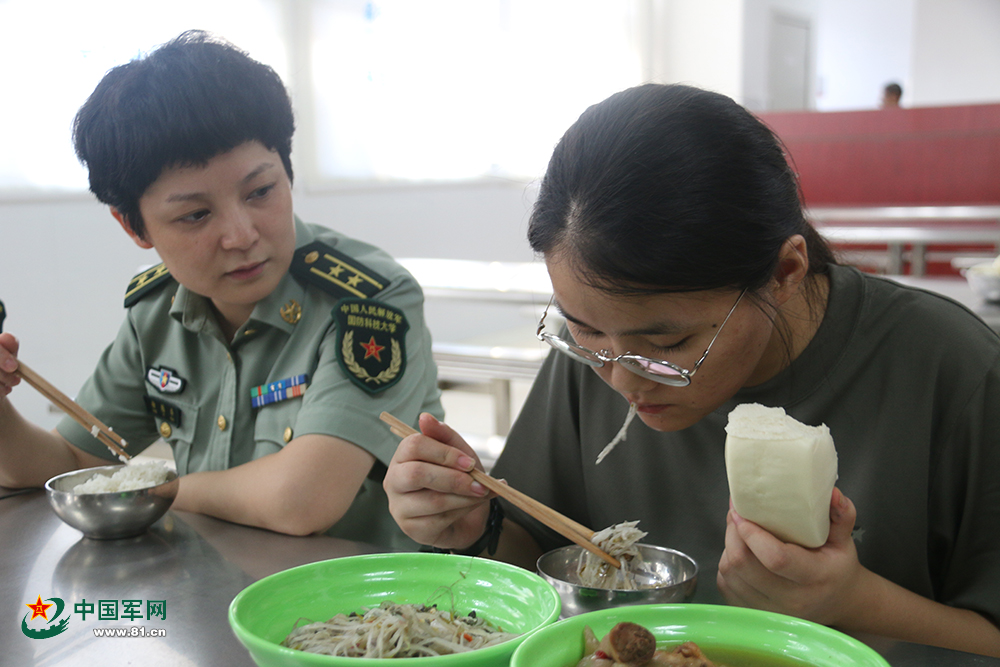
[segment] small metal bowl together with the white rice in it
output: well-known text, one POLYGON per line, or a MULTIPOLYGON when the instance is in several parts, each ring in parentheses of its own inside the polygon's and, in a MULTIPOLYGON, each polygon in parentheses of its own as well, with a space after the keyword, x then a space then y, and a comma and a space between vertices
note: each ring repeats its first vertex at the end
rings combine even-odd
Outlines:
POLYGON ((45 483, 49 504, 67 524, 98 540, 141 535, 177 497, 177 473, 163 461, 130 461, 57 475, 45 483))

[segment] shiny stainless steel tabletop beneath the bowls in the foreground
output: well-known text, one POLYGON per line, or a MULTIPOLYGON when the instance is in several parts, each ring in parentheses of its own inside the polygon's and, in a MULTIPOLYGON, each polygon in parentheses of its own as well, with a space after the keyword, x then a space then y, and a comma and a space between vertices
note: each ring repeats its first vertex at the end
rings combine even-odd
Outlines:
MULTIPOLYGON (((7 495, 0 488, 0 665, 73 667, 189 665, 251 667, 229 628, 227 610, 244 587, 296 565, 362 553, 371 545, 330 537, 288 537, 197 514, 170 511, 148 533, 127 540, 84 538, 50 509, 42 491, 7 495), (31 639, 21 629, 24 605, 61 598, 67 629, 31 639), (86 600, 164 601, 165 618, 81 618, 86 600), (143 627, 163 637, 96 637, 95 631, 143 627)), ((50 611, 50 613, 54 613, 50 611)), ((860 637, 893 667, 1000 667, 968 653, 860 637)))

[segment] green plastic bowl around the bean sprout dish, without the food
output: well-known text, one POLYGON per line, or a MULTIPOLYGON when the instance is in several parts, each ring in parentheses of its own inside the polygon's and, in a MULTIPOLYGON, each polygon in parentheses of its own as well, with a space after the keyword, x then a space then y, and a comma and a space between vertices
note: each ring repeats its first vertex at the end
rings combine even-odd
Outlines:
POLYGON ((247 586, 229 605, 229 625, 260 667, 416 665, 507 667, 528 633, 561 610, 555 589, 533 572, 485 558, 434 553, 349 556, 278 572, 247 586), (449 592, 450 589, 450 592, 449 592), (522 636, 486 648, 424 658, 342 658, 280 646, 300 617, 325 621, 384 600, 475 611, 522 636))

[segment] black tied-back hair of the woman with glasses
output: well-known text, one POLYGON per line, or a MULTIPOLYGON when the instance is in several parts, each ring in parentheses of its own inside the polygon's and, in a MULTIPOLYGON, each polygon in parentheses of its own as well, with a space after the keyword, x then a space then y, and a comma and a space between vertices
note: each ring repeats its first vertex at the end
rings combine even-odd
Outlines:
POLYGON ((591 286, 621 294, 759 290, 795 234, 811 274, 836 263, 775 134, 724 95, 660 84, 580 116, 528 225, 535 252, 559 253, 591 286))

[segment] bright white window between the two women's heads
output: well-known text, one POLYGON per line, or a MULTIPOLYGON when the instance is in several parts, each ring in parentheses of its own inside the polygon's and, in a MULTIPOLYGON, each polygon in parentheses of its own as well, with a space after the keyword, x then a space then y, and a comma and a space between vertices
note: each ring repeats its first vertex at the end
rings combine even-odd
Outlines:
POLYGON ((540 175, 587 106, 640 81, 631 8, 616 0, 316 3, 320 177, 540 175))

